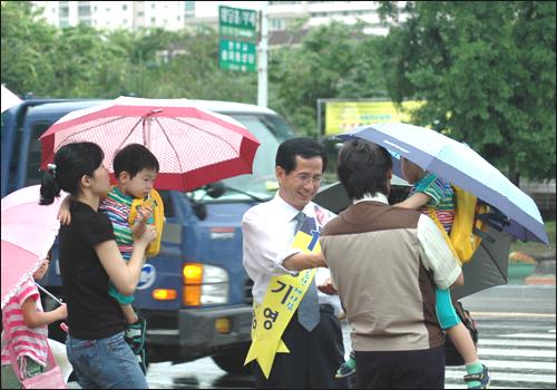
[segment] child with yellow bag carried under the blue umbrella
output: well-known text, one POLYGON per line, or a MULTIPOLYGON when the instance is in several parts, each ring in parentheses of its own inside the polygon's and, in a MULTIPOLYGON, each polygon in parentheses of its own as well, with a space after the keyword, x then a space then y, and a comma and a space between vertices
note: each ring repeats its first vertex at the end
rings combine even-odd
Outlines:
MULTIPOLYGON (((402 175, 412 184, 408 198, 395 204, 397 207, 417 209, 436 218, 450 233, 455 217, 453 191, 449 183, 434 174, 427 173, 418 165, 401 158, 402 175), (434 215, 431 215, 434 213, 434 215)), ((478 359, 476 345, 468 329, 462 324, 452 306, 450 291, 436 289, 437 318, 441 329, 449 335, 458 352, 465 359, 467 376, 465 382, 469 389, 486 389, 489 384, 489 371, 478 359)), ((346 377, 355 372, 353 352, 336 372, 346 377)))

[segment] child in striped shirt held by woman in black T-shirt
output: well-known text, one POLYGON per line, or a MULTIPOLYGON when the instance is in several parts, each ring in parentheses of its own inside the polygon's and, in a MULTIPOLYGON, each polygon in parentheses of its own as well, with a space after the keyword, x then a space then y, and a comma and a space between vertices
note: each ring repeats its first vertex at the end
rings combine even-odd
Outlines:
MULTIPOLYGON (((135 199, 145 199, 149 196, 153 184, 159 170, 158 160, 145 146, 130 144, 120 149, 114 157, 114 173, 118 183, 110 189, 99 205, 99 211, 106 213, 110 220, 116 237, 116 244, 125 261, 129 261, 134 250, 134 237, 140 236, 147 223, 153 223, 153 211, 156 204, 145 202, 136 212, 137 216, 133 224, 129 216, 133 212, 131 205, 135 199)), ((68 196, 69 198, 69 196, 68 196)), ((69 224, 69 199, 62 203, 59 220, 62 224, 69 224)), ((134 295, 121 294, 110 282, 109 295, 120 304, 126 321, 125 340, 131 347, 134 353, 143 351, 146 322, 139 318, 131 302, 134 295)), ((145 371, 145 362, 141 361, 145 371)))

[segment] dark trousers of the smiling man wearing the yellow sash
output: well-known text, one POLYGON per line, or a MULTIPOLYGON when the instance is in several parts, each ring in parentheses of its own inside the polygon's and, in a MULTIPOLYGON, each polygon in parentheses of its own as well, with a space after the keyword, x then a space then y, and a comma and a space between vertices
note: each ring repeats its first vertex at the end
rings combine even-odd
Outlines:
POLYGON ((321 320, 307 332, 294 313, 282 340, 290 353, 277 353, 268 380, 256 361, 252 372, 260 389, 349 389, 349 380, 334 374, 344 362, 344 345, 339 319, 330 305, 321 306, 321 320))

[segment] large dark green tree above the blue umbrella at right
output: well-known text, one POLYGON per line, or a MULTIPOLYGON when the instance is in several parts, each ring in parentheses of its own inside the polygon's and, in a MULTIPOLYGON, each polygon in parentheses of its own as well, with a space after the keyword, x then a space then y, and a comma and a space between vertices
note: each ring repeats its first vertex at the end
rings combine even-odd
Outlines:
POLYGON ((408 2, 405 11, 381 50, 391 98, 424 100, 417 124, 465 140, 516 184, 555 178, 555 2, 408 2))

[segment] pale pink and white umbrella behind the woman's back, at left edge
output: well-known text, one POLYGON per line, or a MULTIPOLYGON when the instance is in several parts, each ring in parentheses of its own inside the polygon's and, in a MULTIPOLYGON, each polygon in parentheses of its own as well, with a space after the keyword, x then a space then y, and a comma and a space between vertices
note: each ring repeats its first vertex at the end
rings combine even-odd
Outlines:
POLYGON ((40 206, 39 198, 39 185, 2 198, 2 309, 47 257, 60 227, 57 214, 63 196, 48 206, 40 206))

